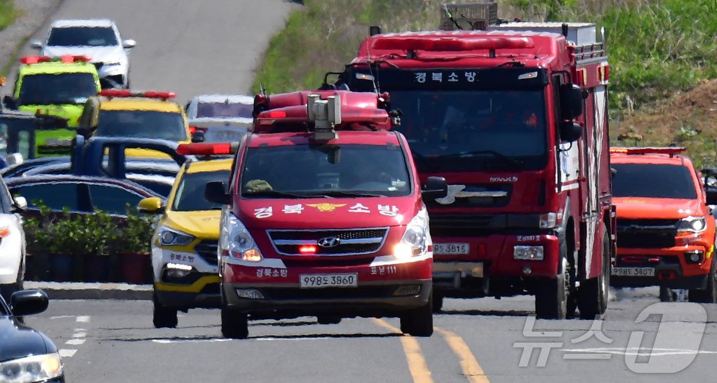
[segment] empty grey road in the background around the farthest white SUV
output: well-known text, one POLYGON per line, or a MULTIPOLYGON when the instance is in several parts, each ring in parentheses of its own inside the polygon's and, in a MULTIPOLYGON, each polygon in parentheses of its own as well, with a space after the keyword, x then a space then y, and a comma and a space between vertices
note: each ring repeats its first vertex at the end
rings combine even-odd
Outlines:
MULTIPOLYGON (((286 0, 63 0, 32 39, 44 39, 54 19, 113 19, 123 39, 137 41, 131 86, 174 91, 184 104, 194 94, 248 92, 262 52, 294 6, 286 0)), ((22 55, 37 54, 27 45, 22 55)))

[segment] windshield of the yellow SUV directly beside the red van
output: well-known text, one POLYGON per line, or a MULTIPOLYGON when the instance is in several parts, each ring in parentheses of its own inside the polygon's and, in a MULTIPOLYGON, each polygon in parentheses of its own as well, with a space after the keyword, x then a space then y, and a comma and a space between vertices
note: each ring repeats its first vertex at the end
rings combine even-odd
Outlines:
POLYGON ((219 203, 209 202, 204 198, 197 198, 197 195, 204 195, 206 183, 212 181, 224 181, 225 183, 229 183, 229 170, 185 173, 179 181, 179 186, 177 186, 174 203, 172 203, 172 210, 194 211, 221 209, 222 205, 219 203))

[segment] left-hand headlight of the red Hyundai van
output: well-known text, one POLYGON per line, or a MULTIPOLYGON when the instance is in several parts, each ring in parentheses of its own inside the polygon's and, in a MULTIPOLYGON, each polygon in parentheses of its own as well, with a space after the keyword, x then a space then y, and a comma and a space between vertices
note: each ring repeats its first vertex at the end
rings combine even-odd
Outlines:
POLYGON ((247 262, 259 262, 262 253, 246 226, 232 213, 222 210, 222 226, 219 233, 219 256, 231 256, 247 262))

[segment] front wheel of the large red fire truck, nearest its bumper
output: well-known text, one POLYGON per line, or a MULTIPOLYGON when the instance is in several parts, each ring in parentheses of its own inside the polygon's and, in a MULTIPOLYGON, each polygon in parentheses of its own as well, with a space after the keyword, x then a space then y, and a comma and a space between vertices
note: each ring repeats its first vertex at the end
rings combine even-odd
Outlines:
POLYGON ((566 241, 560 243, 561 273, 554 279, 538 281, 536 289, 536 318, 537 319, 566 319, 575 312, 574 283, 571 282, 570 263, 566 262, 568 247, 566 241), (569 310, 571 312, 569 313, 569 310))

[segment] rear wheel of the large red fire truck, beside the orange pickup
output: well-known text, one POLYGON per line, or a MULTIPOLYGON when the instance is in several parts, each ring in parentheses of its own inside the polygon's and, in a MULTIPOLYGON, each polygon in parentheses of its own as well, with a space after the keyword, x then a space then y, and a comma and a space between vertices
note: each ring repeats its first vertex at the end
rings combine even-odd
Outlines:
POLYGON ((607 227, 602 224, 602 273, 590 278, 580 285, 578 293, 578 309, 581 319, 595 319, 605 314, 609 300, 610 285, 610 240, 607 227))

